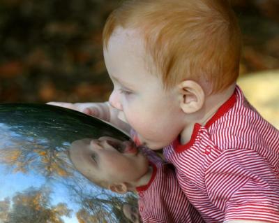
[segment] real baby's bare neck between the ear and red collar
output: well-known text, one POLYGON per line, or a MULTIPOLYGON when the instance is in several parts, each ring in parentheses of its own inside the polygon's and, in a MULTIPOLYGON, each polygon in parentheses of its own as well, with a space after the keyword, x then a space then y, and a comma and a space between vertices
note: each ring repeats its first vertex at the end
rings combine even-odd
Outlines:
POLYGON ((181 132, 181 145, 190 141, 195 123, 199 123, 204 126, 206 122, 213 117, 218 108, 220 108, 220 106, 222 106, 223 103, 225 103, 229 97, 232 96, 235 86, 235 84, 230 85, 223 92, 206 96, 202 109, 197 111, 195 114, 188 115, 187 119, 190 120, 190 122, 186 124, 186 127, 181 132))

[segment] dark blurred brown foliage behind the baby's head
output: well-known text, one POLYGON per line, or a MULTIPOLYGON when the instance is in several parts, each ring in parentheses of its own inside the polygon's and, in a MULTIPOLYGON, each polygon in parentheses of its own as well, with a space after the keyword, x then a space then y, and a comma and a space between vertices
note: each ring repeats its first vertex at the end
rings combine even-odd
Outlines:
MULTIPOLYGON (((119 0, 0 0, 0 102, 104 101, 102 29, 119 0)), ((279 69, 279 1, 232 0, 241 75, 279 69)))

